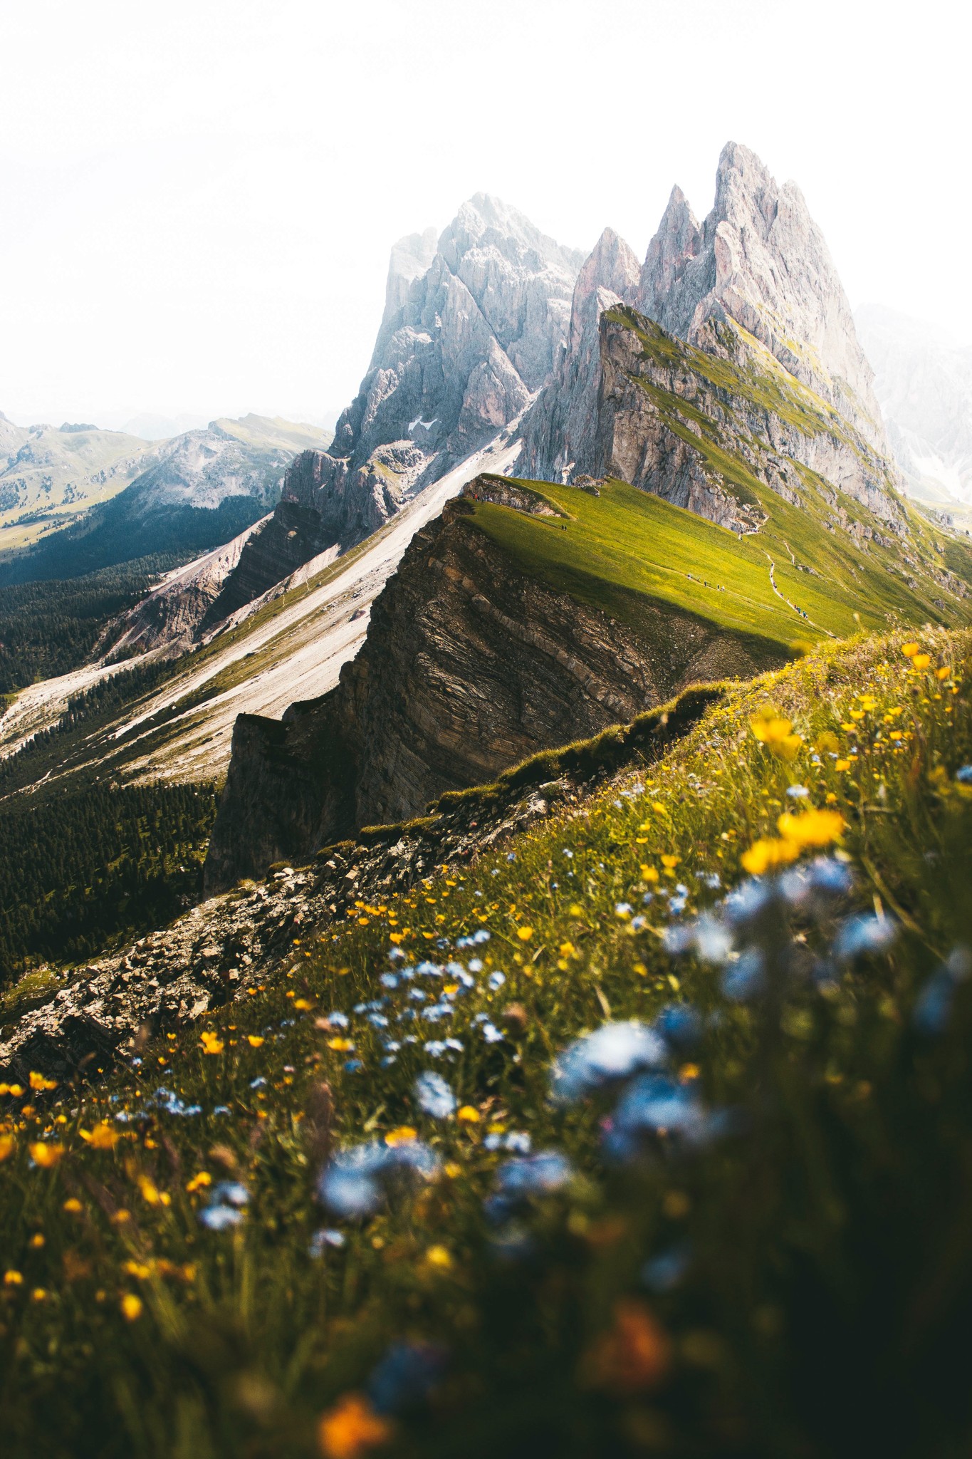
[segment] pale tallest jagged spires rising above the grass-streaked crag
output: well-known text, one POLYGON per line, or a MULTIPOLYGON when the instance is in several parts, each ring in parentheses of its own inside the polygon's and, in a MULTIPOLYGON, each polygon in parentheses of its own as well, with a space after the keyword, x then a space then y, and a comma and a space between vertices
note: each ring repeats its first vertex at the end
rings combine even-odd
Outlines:
POLYGON ((780 187, 748 147, 723 147, 702 223, 673 188, 638 308, 691 344, 710 321, 734 320, 870 445, 886 448, 873 374, 823 233, 796 182, 780 187))

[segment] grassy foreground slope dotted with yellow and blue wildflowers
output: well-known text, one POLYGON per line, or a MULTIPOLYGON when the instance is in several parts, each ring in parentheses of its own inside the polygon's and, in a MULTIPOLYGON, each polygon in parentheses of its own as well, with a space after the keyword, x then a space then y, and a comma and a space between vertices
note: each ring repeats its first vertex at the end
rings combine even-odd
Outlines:
POLYGON ((0 1084, 4 1455, 968 1455, 971 655, 822 646, 0 1084))

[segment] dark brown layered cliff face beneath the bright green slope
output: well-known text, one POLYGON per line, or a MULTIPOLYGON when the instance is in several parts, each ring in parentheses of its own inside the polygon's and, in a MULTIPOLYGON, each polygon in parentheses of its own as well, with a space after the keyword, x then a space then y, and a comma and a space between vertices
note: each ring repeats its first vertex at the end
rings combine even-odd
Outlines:
MULTIPOLYGON (((466 487, 510 500, 503 481, 466 487)), ((338 687, 283 721, 236 721, 207 887, 404 820, 538 748, 595 734, 679 687, 758 667, 739 639, 646 603, 640 629, 517 570, 459 499, 418 533, 338 687)))

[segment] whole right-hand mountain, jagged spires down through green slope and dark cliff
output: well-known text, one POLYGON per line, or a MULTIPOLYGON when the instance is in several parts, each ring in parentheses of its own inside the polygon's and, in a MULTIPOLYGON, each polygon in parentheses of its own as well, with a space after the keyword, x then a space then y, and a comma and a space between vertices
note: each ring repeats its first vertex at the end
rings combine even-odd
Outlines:
POLYGON ((800 642, 969 619, 972 554, 898 489, 826 245, 746 149, 641 270, 602 235, 522 436, 519 481, 414 538, 338 687, 236 722, 208 887, 800 642))

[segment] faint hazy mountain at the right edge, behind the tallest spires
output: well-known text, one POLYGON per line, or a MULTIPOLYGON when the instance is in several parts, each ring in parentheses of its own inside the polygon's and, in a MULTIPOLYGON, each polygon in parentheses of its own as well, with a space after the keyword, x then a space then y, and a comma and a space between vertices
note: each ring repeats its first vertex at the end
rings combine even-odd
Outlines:
POLYGON ((879 303, 854 320, 909 490, 946 511, 972 506, 972 349, 879 303))

